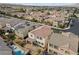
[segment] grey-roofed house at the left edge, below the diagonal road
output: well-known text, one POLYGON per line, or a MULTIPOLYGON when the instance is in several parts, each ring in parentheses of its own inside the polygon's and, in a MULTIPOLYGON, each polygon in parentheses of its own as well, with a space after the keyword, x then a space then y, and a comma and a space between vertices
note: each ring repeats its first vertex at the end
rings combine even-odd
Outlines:
POLYGON ((12 18, 12 17, 0 17, 0 27, 1 28, 6 27, 7 29, 9 29, 21 22, 25 22, 25 21, 21 20, 21 19, 12 18))

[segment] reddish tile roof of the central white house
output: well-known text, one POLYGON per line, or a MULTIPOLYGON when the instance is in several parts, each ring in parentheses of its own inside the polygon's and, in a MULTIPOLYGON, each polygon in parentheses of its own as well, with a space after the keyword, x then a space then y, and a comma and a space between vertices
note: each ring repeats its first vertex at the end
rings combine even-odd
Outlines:
POLYGON ((33 33, 36 36, 47 37, 51 33, 51 27, 47 25, 40 26, 39 28, 31 31, 31 33, 33 33))

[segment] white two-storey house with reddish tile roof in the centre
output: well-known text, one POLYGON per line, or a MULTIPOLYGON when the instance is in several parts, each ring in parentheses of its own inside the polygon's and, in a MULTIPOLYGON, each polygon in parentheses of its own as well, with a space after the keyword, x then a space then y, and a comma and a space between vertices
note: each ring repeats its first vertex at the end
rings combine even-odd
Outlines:
POLYGON ((35 44, 41 47, 47 45, 49 35, 51 34, 51 27, 47 25, 40 26, 35 30, 32 30, 28 33, 29 39, 26 41, 33 41, 35 44))

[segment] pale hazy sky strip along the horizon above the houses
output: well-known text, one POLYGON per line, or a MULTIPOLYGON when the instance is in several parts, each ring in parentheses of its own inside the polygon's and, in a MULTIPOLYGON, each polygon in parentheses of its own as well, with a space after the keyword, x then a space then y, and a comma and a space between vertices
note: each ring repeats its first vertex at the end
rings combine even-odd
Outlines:
POLYGON ((0 3, 0 5, 79 7, 79 3, 0 3))

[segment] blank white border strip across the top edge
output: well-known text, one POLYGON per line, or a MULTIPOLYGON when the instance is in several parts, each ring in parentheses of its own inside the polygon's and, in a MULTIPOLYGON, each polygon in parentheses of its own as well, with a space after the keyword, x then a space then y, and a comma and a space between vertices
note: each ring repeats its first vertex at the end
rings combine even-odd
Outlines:
POLYGON ((0 3, 77 3, 79 0, 0 0, 0 3))

